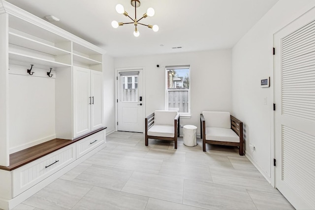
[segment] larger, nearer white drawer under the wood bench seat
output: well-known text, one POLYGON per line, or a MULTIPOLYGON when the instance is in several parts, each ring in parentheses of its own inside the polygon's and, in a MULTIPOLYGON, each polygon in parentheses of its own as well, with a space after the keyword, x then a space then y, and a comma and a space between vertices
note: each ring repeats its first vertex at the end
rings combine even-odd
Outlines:
POLYGON ((75 144, 71 144, 13 170, 13 197, 75 161, 75 150, 75 144))

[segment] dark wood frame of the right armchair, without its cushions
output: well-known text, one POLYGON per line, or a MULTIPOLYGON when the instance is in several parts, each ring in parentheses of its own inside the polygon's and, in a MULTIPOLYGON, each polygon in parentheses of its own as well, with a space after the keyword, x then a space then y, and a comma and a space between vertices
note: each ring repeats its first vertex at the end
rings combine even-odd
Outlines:
POLYGON ((206 121, 200 114, 200 138, 202 139, 202 150, 206 151, 206 143, 213 145, 227 145, 239 148, 239 154, 244 155, 244 139, 243 139, 243 122, 231 115, 231 129, 240 137, 240 142, 222 142, 214 140, 206 140, 206 121))

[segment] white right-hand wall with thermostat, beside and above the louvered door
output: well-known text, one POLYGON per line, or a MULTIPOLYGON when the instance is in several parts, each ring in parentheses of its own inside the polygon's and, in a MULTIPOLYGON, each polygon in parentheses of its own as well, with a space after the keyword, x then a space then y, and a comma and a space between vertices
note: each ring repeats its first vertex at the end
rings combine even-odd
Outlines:
POLYGON ((244 121, 246 155, 271 183, 274 183, 273 34, 313 6, 315 0, 279 0, 232 49, 232 111, 244 121), (271 87, 260 88, 260 80, 269 76, 271 87), (250 144, 255 146, 254 151, 250 144))

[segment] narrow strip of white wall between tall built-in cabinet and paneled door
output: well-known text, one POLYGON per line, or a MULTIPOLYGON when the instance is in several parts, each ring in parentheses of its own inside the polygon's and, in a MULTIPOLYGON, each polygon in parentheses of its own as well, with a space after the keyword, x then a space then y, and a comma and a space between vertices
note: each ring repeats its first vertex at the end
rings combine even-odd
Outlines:
POLYGON ((104 126, 106 133, 115 131, 115 68, 114 59, 103 55, 104 126))

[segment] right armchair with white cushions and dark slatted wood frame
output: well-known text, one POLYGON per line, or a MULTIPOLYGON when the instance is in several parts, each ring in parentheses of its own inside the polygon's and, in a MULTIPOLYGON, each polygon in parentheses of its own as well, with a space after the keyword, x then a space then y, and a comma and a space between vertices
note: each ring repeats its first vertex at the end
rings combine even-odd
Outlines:
POLYGON ((202 112, 200 128, 203 151, 206 151, 207 143, 236 146, 239 147, 239 154, 244 154, 243 122, 231 116, 229 112, 202 112))

